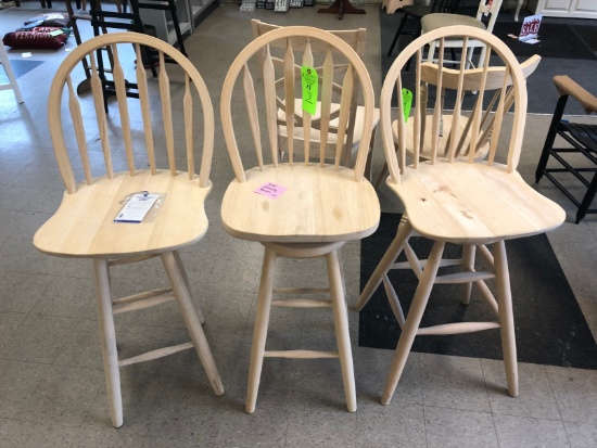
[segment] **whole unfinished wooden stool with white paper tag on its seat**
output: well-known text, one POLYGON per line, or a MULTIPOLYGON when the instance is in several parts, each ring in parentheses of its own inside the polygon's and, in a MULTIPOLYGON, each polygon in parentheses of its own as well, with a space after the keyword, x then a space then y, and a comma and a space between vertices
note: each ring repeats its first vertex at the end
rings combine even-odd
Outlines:
POLYGON ((66 192, 58 212, 35 234, 34 244, 48 255, 93 261, 112 423, 116 427, 123 424, 118 368, 182 349, 198 351, 214 392, 221 395, 218 370, 200 323, 203 318, 195 309, 178 254, 179 248, 200 241, 208 226, 204 202, 212 189, 214 112, 202 77, 178 50, 157 38, 136 33, 102 35, 84 42, 64 60, 51 86, 48 111, 66 192), (157 79, 148 80, 142 64, 136 68, 123 64, 123 54, 126 61, 134 55, 141 61, 140 46, 157 51, 157 79), (109 114, 96 57, 103 48, 113 54, 116 89, 109 114), (180 68, 166 72, 166 55, 180 68), (90 60, 92 88, 85 108, 75 94, 78 74, 73 73, 84 57, 90 60), (125 76, 137 78, 138 100, 127 101, 125 76), (175 120, 173 110, 183 111, 183 119, 175 120), (195 150, 195 140, 202 141, 202 152, 195 150), (199 174, 195 157, 200 157, 199 174), (143 166, 149 163, 149 169, 137 169, 136 161, 142 161, 143 166), (125 170, 116 172, 116 166, 125 170), (84 179, 81 183, 77 183, 75 172, 84 179), (143 191, 162 196, 158 207, 154 206, 142 222, 115 222, 123 201, 143 191), (110 268, 153 257, 161 257, 172 287, 114 298, 110 268), (170 300, 176 300, 192 342, 119 360, 113 315, 170 300))

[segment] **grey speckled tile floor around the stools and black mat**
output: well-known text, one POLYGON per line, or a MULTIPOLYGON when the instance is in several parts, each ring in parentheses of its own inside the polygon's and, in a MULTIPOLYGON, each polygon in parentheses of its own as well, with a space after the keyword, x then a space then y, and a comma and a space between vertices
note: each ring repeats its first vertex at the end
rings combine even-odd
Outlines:
MULTIPOLYGON (((36 2, 0 12, 0 31, 33 15, 36 2), (29 11, 25 11, 29 9, 29 11)), ((62 5, 55 4, 59 10, 62 5)), ((207 81, 216 116, 225 73, 251 38, 250 18, 328 29, 366 27, 366 63, 380 91, 379 18, 367 14, 239 12, 218 7, 186 40, 190 59, 207 81)), ((84 35, 89 29, 81 24, 84 35)), ((71 39, 68 48, 73 48, 71 39)), ((346 412, 338 362, 268 359, 254 414, 243 401, 262 248, 234 240, 219 222, 219 201, 232 171, 221 131, 216 133, 214 192, 207 204, 211 228, 183 252, 205 313, 205 330, 226 393, 213 395, 193 353, 181 353, 122 370, 125 424, 110 424, 97 337, 90 264, 36 252, 35 230, 56 208, 61 194, 48 138, 46 104, 52 73, 66 53, 34 52, 45 63, 18 79, 25 104, 0 92, 0 447, 595 447, 597 372, 520 364, 521 394, 507 396, 503 364, 412 354, 392 404, 379 397, 392 356, 356 345, 358 316, 350 312, 358 412, 346 412)), ((11 57, 21 52, 11 51, 11 57)), ((532 181, 548 117, 530 116, 521 172, 532 181)), ((376 170, 382 151, 376 146, 376 170)), ((594 334, 597 330, 597 217, 575 226, 572 209, 547 182, 545 194, 568 207, 569 221, 549 240, 594 334)), ((385 188, 385 210, 399 206, 385 188)), ((344 251, 350 303, 358 294, 359 245, 344 251)), ((541 260, 537 260, 541 261, 541 260)), ((281 264, 277 281, 312 281, 313 263, 281 264)), ((147 282, 148 271, 129 268, 116 287, 147 282)), ((515 297, 516 306, 516 297, 515 297)), ((272 315, 268 341, 285 346, 333 341, 320 310, 272 315)), ((179 341, 186 333, 173 307, 117 320, 123 351, 138 351, 148 334, 179 341)))

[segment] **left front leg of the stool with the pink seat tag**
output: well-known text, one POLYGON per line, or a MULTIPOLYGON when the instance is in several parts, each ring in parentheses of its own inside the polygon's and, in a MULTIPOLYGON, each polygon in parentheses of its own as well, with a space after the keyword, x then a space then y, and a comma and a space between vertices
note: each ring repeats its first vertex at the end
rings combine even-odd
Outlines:
POLYGON ((274 272, 277 255, 270 248, 265 248, 262 278, 259 280, 259 293, 257 297, 257 312, 253 330, 253 345, 251 347, 251 364, 249 367, 249 383, 246 386, 245 411, 255 412, 259 380, 264 363, 265 341, 269 323, 269 310, 271 308, 271 294, 274 289, 274 272))

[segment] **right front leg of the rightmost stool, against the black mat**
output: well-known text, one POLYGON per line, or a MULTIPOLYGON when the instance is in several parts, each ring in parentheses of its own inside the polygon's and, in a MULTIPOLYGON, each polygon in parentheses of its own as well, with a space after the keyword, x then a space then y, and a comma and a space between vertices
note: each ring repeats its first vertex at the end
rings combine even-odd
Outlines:
POLYGON ((501 334, 501 349, 504 351, 504 366, 508 392, 512 397, 518 397, 518 366, 517 343, 515 338, 515 317, 512 313, 512 293, 510 291, 510 273, 508 271, 508 257, 504 240, 497 241, 494 246, 494 264, 496 273, 497 306, 499 310, 499 324, 501 334))

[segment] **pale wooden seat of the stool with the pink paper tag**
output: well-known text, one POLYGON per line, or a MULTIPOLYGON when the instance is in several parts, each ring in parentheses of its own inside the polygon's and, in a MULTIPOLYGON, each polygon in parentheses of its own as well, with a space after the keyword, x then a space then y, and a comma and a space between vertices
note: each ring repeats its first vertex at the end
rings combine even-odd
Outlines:
POLYGON ((245 172, 246 182, 232 181, 224 195, 221 220, 233 236, 280 243, 334 242, 368 236, 377 229, 379 201, 367 181, 354 171, 281 164, 245 172), (277 199, 254 193, 266 182, 287 190, 277 199))

